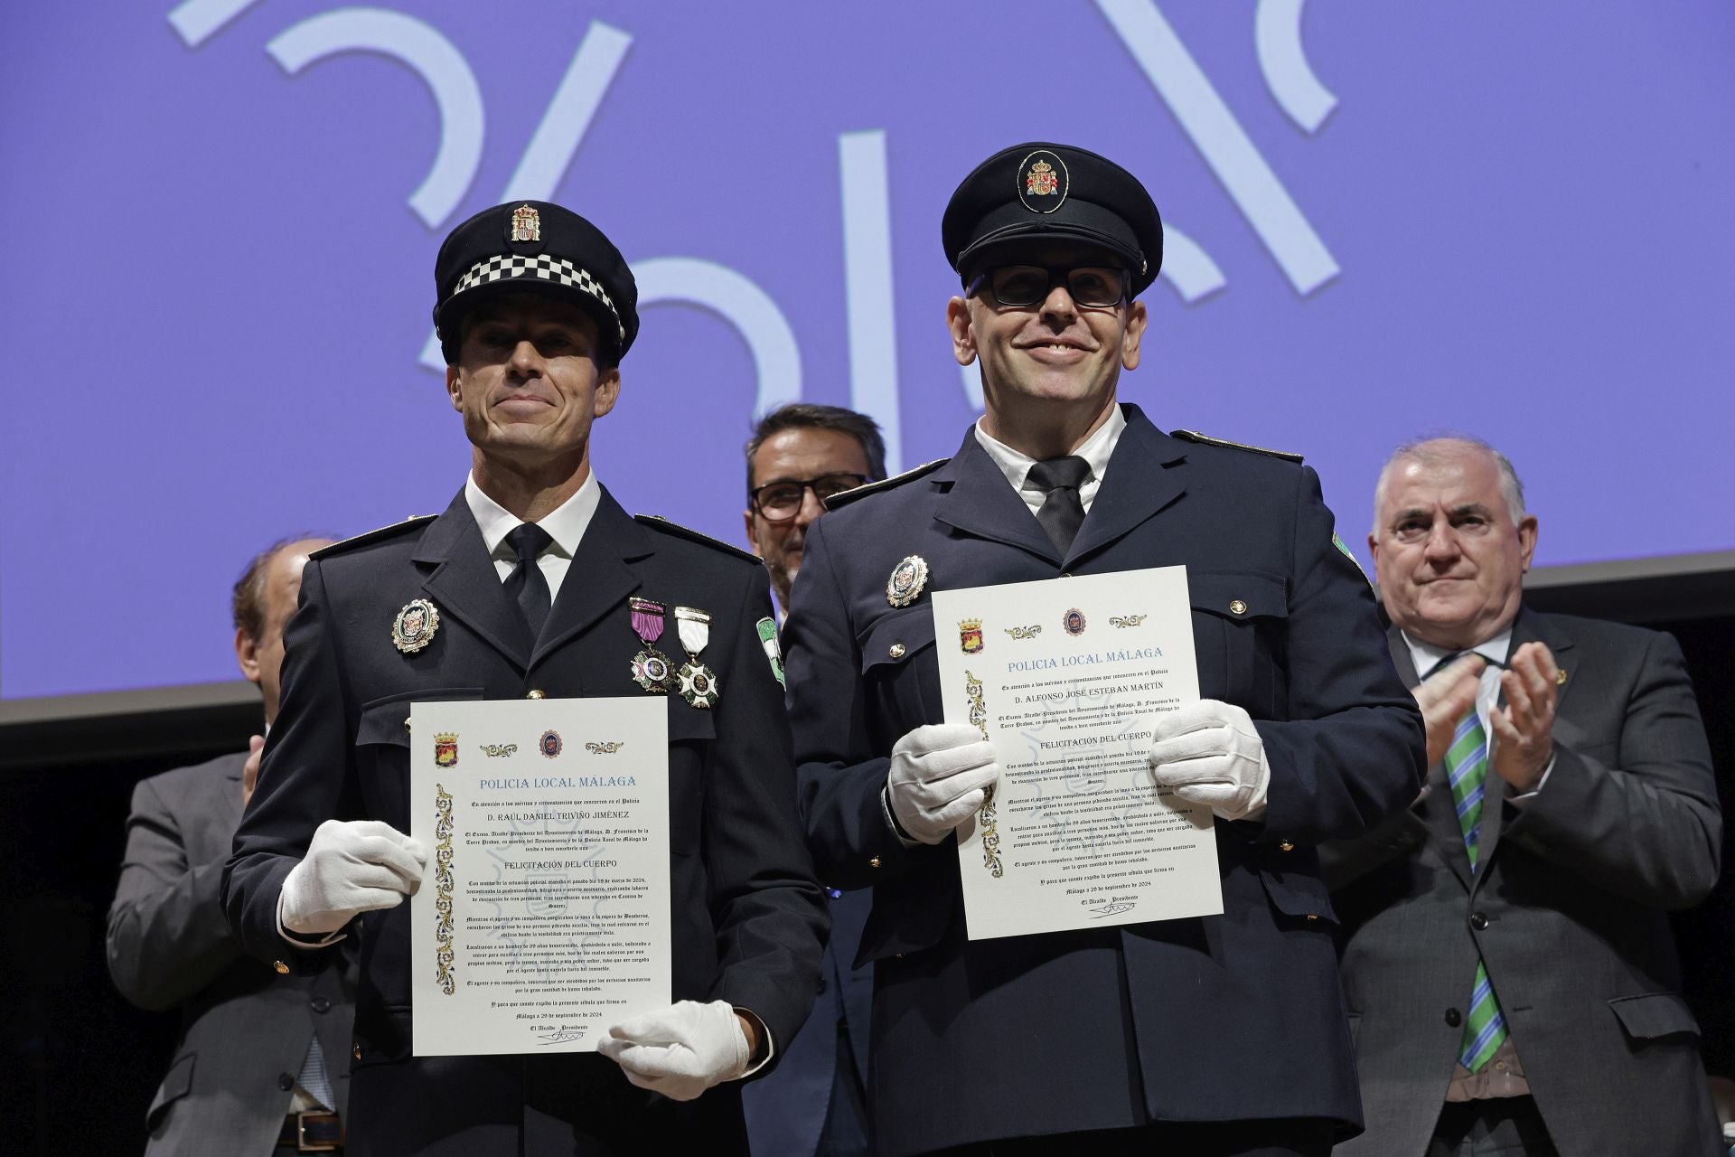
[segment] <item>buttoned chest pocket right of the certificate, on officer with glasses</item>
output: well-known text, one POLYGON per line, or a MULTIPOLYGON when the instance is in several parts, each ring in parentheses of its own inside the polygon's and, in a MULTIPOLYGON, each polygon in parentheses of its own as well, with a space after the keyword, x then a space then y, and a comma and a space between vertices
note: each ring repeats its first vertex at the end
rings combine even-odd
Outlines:
POLYGON ((1280 720, 1289 637, 1287 583, 1258 571, 1188 571, 1199 694, 1253 718, 1280 720))

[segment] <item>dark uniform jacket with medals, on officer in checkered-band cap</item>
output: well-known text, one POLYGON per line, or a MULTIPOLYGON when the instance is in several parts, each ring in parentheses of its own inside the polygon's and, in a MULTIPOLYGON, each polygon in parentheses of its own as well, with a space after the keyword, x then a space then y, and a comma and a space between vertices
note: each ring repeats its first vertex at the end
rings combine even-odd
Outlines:
MULTIPOLYGON (((321 820, 409 829, 413 701, 645 694, 630 678, 633 593, 711 612, 703 657, 722 690, 711 709, 670 696, 673 996, 750 1008, 789 1041, 814 999, 826 909, 802 847, 782 692, 755 633, 770 616, 765 572, 633 520, 607 491, 534 645, 462 493, 439 519, 314 555, 285 633, 283 711, 229 862, 226 905, 248 951, 291 956, 278 893, 321 820), (399 654, 390 624, 416 597, 441 626, 399 654)), ((675 1103, 592 1053, 413 1058, 408 905, 361 918, 361 945, 350 1154, 743 1143, 734 1084, 675 1103)))

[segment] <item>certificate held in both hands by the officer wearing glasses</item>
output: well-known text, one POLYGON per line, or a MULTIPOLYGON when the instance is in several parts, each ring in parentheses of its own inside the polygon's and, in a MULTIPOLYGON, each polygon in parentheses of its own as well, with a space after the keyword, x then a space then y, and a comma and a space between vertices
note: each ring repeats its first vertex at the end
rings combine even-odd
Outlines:
POLYGON ((933 592, 946 722, 1001 777, 958 829, 972 940, 1223 911, 1211 808, 1152 784, 1199 699, 1187 567, 933 592))

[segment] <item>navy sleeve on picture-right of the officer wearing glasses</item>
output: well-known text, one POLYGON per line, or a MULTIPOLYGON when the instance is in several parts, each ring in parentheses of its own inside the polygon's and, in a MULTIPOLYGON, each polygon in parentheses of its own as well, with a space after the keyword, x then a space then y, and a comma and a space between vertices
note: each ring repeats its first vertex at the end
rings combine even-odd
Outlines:
POLYGON ((1272 765, 1267 843, 1357 836, 1407 808, 1426 775, 1426 730, 1404 689, 1374 595, 1332 541, 1319 475, 1296 487, 1287 718, 1260 720, 1272 765))

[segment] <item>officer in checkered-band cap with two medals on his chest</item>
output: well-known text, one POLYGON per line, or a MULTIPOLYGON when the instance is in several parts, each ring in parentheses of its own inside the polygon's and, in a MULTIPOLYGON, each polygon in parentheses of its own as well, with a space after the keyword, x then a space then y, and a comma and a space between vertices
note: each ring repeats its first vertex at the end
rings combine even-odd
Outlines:
POLYGON ((500 205, 446 238, 435 281, 470 477, 446 513, 307 564, 229 921, 279 971, 361 938, 350 1154, 744 1152, 734 1082, 800 1027, 826 928, 760 644, 765 572, 628 517, 590 468, 638 331, 632 271, 595 226, 500 205), (677 614, 708 630, 677 633, 677 614), (687 650, 678 680, 678 659, 644 661, 656 642, 687 650), (411 1056, 403 899, 427 848, 406 834, 409 704, 628 694, 668 699, 677 1003, 600 1055, 411 1056))

